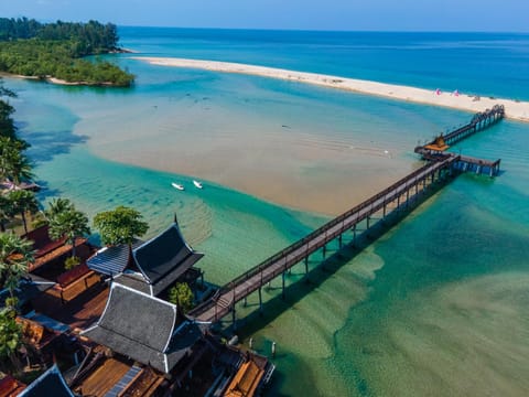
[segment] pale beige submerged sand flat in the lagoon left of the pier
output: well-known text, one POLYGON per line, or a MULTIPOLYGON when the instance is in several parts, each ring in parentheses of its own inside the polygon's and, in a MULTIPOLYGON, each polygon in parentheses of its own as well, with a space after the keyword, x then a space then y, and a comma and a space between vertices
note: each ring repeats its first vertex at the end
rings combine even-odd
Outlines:
POLYGON ((77 132, 89 136, 88 146, 104 158, 312 213, 345 212, 418 165, 403 157, 408 143, 317 137, 305 126, 287 130, 278 120, 253 120, 226 109, 203 111, 184 104, 175 110, 158 101, 155 109, 127 112, 128 119, 119 112, 115 119, 88 118, 77 132))

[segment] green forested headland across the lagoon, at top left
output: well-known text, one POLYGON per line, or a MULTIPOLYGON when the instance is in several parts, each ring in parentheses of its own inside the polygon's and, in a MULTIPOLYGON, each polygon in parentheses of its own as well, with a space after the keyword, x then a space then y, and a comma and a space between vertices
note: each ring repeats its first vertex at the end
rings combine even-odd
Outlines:
POLYGON ((85 56, 119 51, 117 26, 0 18, 0 72, 84 85, 130 86, 134 76, 85 56))

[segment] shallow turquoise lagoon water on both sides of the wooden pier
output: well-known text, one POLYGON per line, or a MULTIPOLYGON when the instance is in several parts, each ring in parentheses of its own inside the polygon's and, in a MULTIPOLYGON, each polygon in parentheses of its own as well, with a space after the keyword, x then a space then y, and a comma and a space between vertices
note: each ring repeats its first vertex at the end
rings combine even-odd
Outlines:
MULTIPOLYGON (((171 44, 155 45, 160 45, 156 54, 174 53, 171 44)), ((144 159, 166 150, 169 154, 158 157, 160 162, 171 161, 168 146, 172 149, 173 133, 184 140, 192 133, 193 139, 203 139, 201 148, 213 148, 223 137, 231 144, 238 137, 245 141, 248 126, 255 129, 252 139, 264 136, 258 137, 256 147, 301 138, 323 151, 337 143, 368 149, 389 144, 397 153, 393 159, 375 158, 368 151, 367 159, 380 160, 370 164, 380 167, 367 175, 375 182, 355 185, 356 194, 367 196, 377 183, 384 186, 418 165, 412 154, 418 140, 469 117, 250 76, 122 62, 138 74, 132 92, 7 81, 19 92, 13 100, 15 118, 21 133, 33 143, 35 172, 46 184, 41 197, 69 197, 90 216, 120 204, 134 206, 150 223, 149 236, 166 227, 176 213, 185 237, 206 254, 199 262, 206 279, 216 283, 228 281, 326 217, 280 207, 207 180, 198 191, 192 176, 123 165, 101 155, 126 161, 126 155, 151 148, 155 153, 144 159), (179 192, 171 187, 172 181, 187 189, 179 192)), ((410 61, 404 66, 412 69, 410 61)), ((278 61, 276 66, 284 65, 278 61)), ((418 69, 419 75, 428 74, 425 67, 418 69)), ((497 83, 487 89, 496 94, 497 83)), ((428 82, 417 85, 423 84, 428 82)), ((262 319, 256 315, 257 297, 249 298, 247 308, 238 307, 244 343, 252 336, 264 354, 272 341, 278 344, 271 395, 529 393, 525 288, 529 158, 523 151, 528 131, 527 125, 504 120, 465 140, 453 150, 501 158, 503 173, 494 180, 460 176, 374 244, 360 251, 345 250, 324 269, 316 268, 321 253, 314 254, 309 283, 294 282, 303 277, 303 265, 288 276, 292 287, 285 302, 279 299, 280 280, 264 290, 268 303, 262 319)), ((349 169, 337 176, 328 163, 305 160, 305 172, 298 168, 296 175, 313 179, 320 187, 330 178, 343 183, 368 172, 363 161, 349 161, 349 169)), ((358 202, 348 200, 350 206, 358 202)))

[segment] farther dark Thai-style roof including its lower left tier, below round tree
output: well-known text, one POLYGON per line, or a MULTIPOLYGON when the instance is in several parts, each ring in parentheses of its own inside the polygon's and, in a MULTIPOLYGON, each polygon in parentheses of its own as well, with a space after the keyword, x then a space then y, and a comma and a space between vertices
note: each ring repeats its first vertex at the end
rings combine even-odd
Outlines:
MULTIPOLYGON (((132 249, 117 282, 158 296, 195 265, 204 254, 185 242, 176 223, 152 239, 132 249)), ((90 266, 90 265, 89 265, 90 266)))

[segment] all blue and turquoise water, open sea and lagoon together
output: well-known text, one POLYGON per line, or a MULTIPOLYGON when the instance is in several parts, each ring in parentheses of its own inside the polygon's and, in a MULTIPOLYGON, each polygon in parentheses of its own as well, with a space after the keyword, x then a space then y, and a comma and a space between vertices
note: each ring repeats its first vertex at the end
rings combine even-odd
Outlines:
MULTIPOLYGON (((529 100, 529 34, 120 26, 119 35, 134 56, 239 62, 529 100)), ((172 181, 191 185, 195 178, 162 171, 161 161, 171 162, 166 153, 179 142, 185 149, 196 137, 234 150, 250 131, 278 142, 295 142, 301 133, 321 146, 390 142, 406 171, 420 164, 418 141, 472 118, 292 82, 153 66, 130 55, 107 58, 137 76, 131 88, 3 78, 18 93, 11 103, 20 135, 32 144, 29 154, 44 187, 39 196, 44 206, 68 197, 90 217, 117 205, 136 207, 150 224, 145 238, 176 216, 190 244, 205 254, 198 267, 214 285, 334 214, 279 205, 207 180, 203 190, 176 191, 172 181), (138 167, 137 157, 152 167, 138 167)), ((256 142, 238 157, 251 161, 256 142)), ((277 366, 268 395, 529 395, 527 148, 529 125, 512 120, 462 141, 451 150, 501 159, 500 174, 458 176, 369 244, 341 253, 331 245, 324 266, 322 253, 314 254, 306 277, 302 264, 287 276, 284 300, 280 279, 263 289, 262 316, 257 297, 240 303, 240 343, 248 347, 251 339, 277 366)), ((207 163, 214 154, 186 161, 207 163)), ((335 178, 314 161, 298 176, 311 178, 314 190, 326 189, 330 197, 332 184, 355 183, 361 172, 374 180, 398 176, 390 167, 371 168, 352 164, 335 178)), ((376 193, 374 184, 355 190, 376 193)), ((230 330, 228 319, 224 325, 230 330)))

